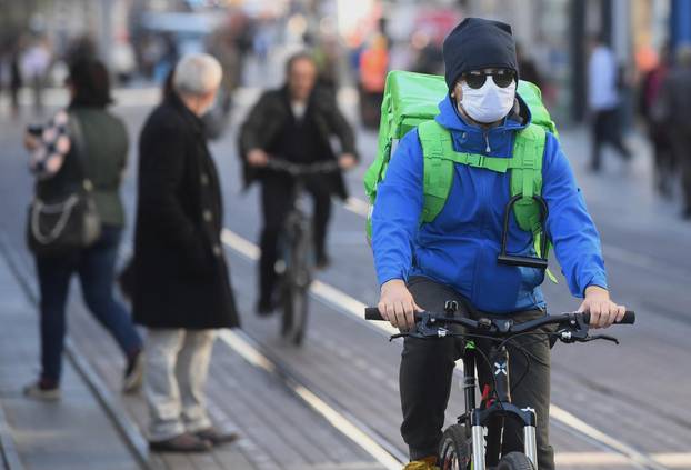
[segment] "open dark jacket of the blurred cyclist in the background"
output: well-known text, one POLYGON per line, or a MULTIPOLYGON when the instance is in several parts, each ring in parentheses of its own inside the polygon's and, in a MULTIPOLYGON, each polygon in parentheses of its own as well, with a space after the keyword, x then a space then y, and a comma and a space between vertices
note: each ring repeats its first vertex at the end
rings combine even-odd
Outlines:
MULTIPOLYGON (((284 128, 290 124, 291 119, 293 118, 288 87, 264 92, 254 104, 240 129, 238 139, 246 186, 263 176, 262 170, 247 164, 248 152, 251 149, 262 149, 271 154, 272 148, 276 147, 277 140, 284 128)), ((303 119, 309 126, 317 128, 319 147, 324 149, 319 156, 320 160, 336 158, 331 147, 332 137, 339 140, 342 153, 352 153, 358 158, 353 130, 339 111, 332 93, 321 87, 314 88, 303 119)), ((324 178, 330 180, 330 190, 333 194, 342 199, 348 197, 341 172, 324 178)))

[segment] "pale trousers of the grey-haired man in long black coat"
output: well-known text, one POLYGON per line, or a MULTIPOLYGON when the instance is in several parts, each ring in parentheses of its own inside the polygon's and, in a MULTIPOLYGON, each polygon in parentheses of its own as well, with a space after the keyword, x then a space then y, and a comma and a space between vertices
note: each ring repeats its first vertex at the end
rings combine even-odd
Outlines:
POLYGON ((203 388, 214 338, 216 330, 148 330, 144 389, 150 441, 211 426, 203 388))

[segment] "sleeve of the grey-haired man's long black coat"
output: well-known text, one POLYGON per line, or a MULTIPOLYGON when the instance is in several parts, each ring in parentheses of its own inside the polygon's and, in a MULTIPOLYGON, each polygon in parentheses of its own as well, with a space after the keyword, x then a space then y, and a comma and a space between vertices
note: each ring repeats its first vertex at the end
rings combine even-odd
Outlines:
POLYGON ((184 134, 174 126, 150 128, 140 148, 140 217, 154 227, 161 242, 173 247, 188 268, 202 273, 210 257, 203 234, 178 196, 186 173, 184 134), (208 256, 209 254, 209 256, 208 256))

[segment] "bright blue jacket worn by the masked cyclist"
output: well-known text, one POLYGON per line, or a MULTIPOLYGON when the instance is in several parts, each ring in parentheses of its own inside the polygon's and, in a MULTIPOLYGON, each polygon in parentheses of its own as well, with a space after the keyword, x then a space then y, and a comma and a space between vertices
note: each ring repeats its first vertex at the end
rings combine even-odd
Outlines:
MULTIPOLYGON (((520 100, 522 121, 530 122, 520 100)), ((489 131, 467 124, 447 97, 437 122, 451 131, 457 151, 511 158, 513 140, 525 123, 507 118, 489 131)), ((380 284, 424 276, 457 290, 478 309, 510 313, 544 307, 534 268, 498 264, 511 173, 455 164, 449 199, 437 219, 420 226, 423 204, 422 147, 418 131, 401 141, 380 183, 372 213, 372 250, 380 284)), ((607 288, 600 238, 559 141, 548 133, 542 197, 549 208, 547 231, 571 293, 588 286, 607 288)), ((534 254, 532 237, 510 218, 509 253, 534 254)))

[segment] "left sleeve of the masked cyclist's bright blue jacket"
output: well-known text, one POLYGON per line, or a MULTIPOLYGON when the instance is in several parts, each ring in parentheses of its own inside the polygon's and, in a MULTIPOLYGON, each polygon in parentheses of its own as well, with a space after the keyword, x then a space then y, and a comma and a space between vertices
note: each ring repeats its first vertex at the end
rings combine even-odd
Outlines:
POLYGON ((408 280, 422 212, 422 148, 413 130, 399 142, 372 212, 372 251, 380 284, 408 280))

